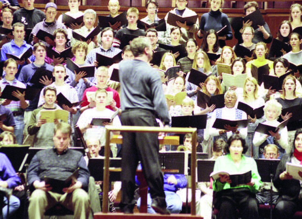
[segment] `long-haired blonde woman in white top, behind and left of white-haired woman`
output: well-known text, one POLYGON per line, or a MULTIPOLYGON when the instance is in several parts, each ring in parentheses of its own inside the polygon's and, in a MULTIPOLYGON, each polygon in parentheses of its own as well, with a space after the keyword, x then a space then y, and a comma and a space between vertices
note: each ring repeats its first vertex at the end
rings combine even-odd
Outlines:
MULTIPOLYGON (((259 97, 258 95, 258 82, 255 78, 251 77, 245 79, 245 83, 243 87, 243 96, 238 97, 238 102, 248 104, 253 109, 257 109, 264 105, 264 99, 262 97, 259 97)), ((254 148, 254 146, 252 145, 252 141, 254 138, 256 127, 260 122, 264 121, 264 118, 257 119, 256 115, 254 115, 253 117, 248 115, 248 119, 250 119, 250 122, 248 125, 248 137, 246 139, 246 144, 248 145, 249 148, 245 154, 247 156, 250 156, 251 147, 254 148)))

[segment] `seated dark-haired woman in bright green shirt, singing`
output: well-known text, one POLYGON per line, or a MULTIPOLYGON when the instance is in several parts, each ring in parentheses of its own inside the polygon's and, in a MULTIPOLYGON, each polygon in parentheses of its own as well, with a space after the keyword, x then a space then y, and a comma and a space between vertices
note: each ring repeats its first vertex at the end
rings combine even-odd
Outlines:
POLYGON ((239 210, 242 219, 259 219, 255 194, 262 182, 255 160, 243 155, 247 149, 248 146, 240 135, 232 135, 225 149, 228 154, 218 157, 215 161, 214 172, 229 171, 233 174, 247 172, 251 179, 246 184, 236 185, 229 175, 221 173, 219 178, 214 180, 213 190, 216 191, 214 206, 219 210, 218 219, 234 219, 236 210, 239 210))

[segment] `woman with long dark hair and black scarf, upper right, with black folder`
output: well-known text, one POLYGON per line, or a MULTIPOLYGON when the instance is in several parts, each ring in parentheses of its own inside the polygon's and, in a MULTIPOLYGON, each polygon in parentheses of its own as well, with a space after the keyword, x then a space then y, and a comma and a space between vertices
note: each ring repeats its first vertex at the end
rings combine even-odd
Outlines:
MULTIPOLYGON (((268 55, 268 59, 271 61, 274 61, 275 59, 278 59, 279 57, 283 56, 286 51, 284 50, 284 48, 280 49, 279 46, 283 47, 282 44, 284 44, 284 47, 286 47, 286 45, 288 45, 289 42, 289 36, 291 35, 291 33, 293 32, 293 29, 291 27, 291 24, 289 21, 282 21, 280 23, 280 26, 278 28, 278 33, 277 33, 277 38, 276 40, 273 39, 273 43, 271 44, 270 48, 269 48, 269 55, 268 55), (276 41, 276 42, 275 42, 276 41), (281 42, 279 42, 281 41, 281 42), (275 46, 276 44, 279 44, 279 46, 275 46), (276 50, 276 48, 278 48, 276 50)), ((289 46, 288 46, 289 48, 289 46)))

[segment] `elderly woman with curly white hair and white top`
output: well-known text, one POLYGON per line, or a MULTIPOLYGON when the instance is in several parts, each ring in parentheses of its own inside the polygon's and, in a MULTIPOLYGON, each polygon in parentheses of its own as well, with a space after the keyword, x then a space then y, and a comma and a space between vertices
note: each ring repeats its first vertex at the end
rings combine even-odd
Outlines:
MULTIPOLYGON (((265 121, 263 124, 277 127, 280 122, 277 121, 281 115, 282 105, 275 99, 269 100, 264 105, 265 121)), ((253 156, 254 158, 264 158, 264 147, 268 144, 275 144, 279 150, 279 157, 281 158, 285 153, 285 149, 288 146, 288 131, 285 126, 282 130, 277 132, 269 131, 270 135, 265 135, 259 132, 255 132, 253 138, 253 156)))

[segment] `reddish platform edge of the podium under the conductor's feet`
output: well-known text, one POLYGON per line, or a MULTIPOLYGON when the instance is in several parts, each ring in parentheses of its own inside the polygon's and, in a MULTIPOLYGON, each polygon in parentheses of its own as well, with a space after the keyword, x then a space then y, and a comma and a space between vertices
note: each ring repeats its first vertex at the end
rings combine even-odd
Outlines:
POLYGON ((166 219, 166 218, 176 218, 176 219, 202 219, 201 216, 190 215, 190 214, 171 214, 171 215, 161 215, 161 214, 146 214, 146 213, 136 213, 136 214, 124 214, 124 213, 95 213, 93 219, 166 219))

